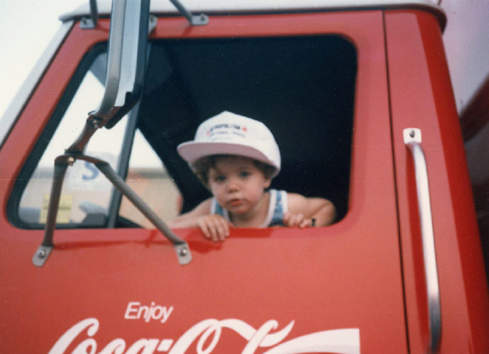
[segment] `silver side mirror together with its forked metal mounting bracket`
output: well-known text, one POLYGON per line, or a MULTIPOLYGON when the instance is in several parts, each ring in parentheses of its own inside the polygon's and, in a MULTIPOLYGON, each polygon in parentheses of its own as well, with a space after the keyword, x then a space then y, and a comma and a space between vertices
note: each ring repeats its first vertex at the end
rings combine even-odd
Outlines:
MULTIPOLYGON (((47 210, 44 240, 36 251, 32 262, 43 266, 54 248, 53 235, 56 215, 61 197, 61 188, 67 168, 79 159, 95 165, 111 183, 146 216, 170 241, 177 252, 181 265, 192 260, 188 244, 151 210, 151 208, 111 168, 109 163, 84 155, 85 147, 95 131, 101 127, 111 128, 139 101, 144 86, 146 44, 148 29, 154 28, 156 18, 150 20, 150 0, 112 0, 111 29, 109 35, 109 57, 105 92, 96 111, 89 113, 85 127, 78 138, 68 147, 64 155, 54 160, 54 177, 47 210)), ((90 13, 96 25, 96 0, 90 0, 90 13)))

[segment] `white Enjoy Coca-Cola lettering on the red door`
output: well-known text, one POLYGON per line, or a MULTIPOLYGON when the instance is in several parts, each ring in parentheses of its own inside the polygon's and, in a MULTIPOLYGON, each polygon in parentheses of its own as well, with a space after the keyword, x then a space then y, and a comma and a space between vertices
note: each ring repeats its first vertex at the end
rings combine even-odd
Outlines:
MULTIPOLYGON (((173 311, 173 306, 143 305, 137 301, 129 302, 124 318, 127 320, 157 320, 165 323, 173 311)), ((192 353, 209 354, 216 348, 221 338, 222 329, 235 331, 244 338, 242 354, 253 354, 258 348, 270 348, 264 354, 292 353, 338 353, 360 354, 360 331, 347 328, 314 332, 282 342, 294 326, 294 321, 277 332, 279 326, 275 320, 265 322, 255 329, 246 322, 229 318, 224 320, 206 319, 200 321, 177 340, 170 338, 141 338, 129 345, 122 338, 115 338, 100 351, 94 335, 99 329, 96 318, 87 318, 78 322, 63 334, 49 351, 49 354, 66 353, 69 347, 78 343, 72 354, 182 354, 187 350, 192 353), (83 333, 86 331, 86 334, 83 333), (197 343, 193 343, 197 340, 197 343), (282 342, 282 343, 281 343, 282 342)))

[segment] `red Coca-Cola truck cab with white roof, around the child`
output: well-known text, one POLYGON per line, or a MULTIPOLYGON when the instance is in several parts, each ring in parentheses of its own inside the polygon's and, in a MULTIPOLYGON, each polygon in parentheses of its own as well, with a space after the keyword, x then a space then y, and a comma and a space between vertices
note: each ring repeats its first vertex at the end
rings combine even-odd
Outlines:
POLYGON ((1 353, 489 353, 443 11, 308 2, 61 18, 0 127, 1 353), (209 196, 176 147, 224 110, 333 225, 166 227, 209 196))

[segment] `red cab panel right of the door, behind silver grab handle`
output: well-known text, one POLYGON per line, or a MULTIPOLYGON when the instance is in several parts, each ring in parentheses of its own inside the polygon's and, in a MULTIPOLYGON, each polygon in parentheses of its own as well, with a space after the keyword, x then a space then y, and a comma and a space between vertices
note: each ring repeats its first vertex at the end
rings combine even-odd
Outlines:
POLYGON ((385 23, 410 350, 425 353, 428 338, 413 161, 402 140, 404 128, 419 128, 439 269, 440 353, 488 353, 488 290, 440 28, 421 11, 387 12, 385 23))

